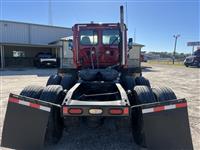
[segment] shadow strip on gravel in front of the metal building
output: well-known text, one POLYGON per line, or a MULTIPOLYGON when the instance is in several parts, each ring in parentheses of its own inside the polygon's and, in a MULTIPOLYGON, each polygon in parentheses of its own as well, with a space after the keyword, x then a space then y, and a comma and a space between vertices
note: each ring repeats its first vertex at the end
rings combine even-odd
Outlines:
POLYGON ((0 76, 16 76, 16 75, 36 75, 36 76, 50 76, 56 74, 57 69, 45 68, 45 69, 6 69, 0 71, 0 76))

